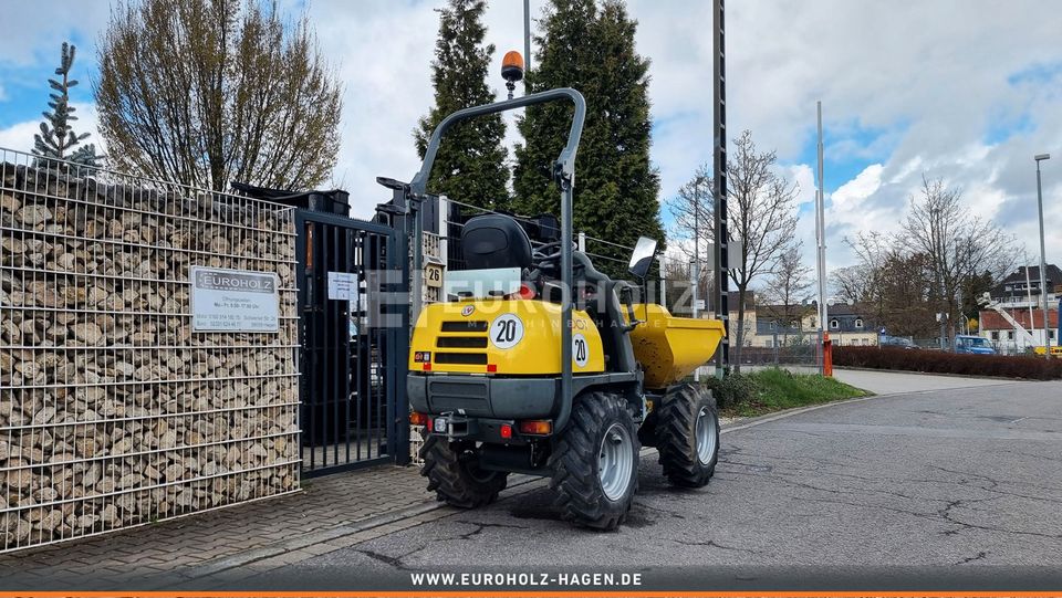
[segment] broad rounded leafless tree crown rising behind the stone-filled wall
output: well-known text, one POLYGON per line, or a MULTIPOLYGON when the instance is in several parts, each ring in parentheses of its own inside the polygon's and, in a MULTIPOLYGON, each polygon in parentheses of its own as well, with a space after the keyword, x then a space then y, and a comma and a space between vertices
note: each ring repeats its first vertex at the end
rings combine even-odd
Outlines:
POLYGON ((302 190, 339 151, 341 88, 306 17, 275 3, 119 4, 100 41, 100 132, 119 169, 223 190, 302 190))

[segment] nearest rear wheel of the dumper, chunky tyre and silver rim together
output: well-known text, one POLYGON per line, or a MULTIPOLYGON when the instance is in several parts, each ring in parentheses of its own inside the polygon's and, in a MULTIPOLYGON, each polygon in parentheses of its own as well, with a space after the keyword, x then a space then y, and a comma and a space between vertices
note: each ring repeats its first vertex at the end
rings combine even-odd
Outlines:
POLYGON ((595 529, 623 523, 638 486, 638 451, 634 419, 618 397, 577 398, 550 455, 562 518, 595 529))

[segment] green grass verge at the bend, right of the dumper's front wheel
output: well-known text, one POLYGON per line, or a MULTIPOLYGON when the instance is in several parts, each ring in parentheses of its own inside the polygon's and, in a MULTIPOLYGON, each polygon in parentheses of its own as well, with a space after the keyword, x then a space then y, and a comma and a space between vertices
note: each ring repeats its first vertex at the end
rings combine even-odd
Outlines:
POLYGON ((762 416, 782 409, 866 397, 866 390, 818 374, 764 369, 709 382, 726 417, 762 416), (721 400, 720 400, 721 399, 721 400))

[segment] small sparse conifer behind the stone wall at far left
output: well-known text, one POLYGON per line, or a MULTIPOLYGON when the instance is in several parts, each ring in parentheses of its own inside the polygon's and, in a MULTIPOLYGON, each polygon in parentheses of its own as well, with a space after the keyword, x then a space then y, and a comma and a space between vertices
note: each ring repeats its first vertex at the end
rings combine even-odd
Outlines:
POLYGON ((72 125, 72 122, 77 119, 74 116, 77 108, 70 105, 70 90, 77 85, 77 81, 70 78, 70 71, 74 65, 76 51, 74 45, 63 42, 59 69, 55 69, 55 75, 62 78, 48 80, 54 93, 49 94, 51 102, 48 105, 52 108, 51 112, 41 113, 44 116, 41 133, 33 135, 33 155, 38 157, 38 165, 46 162, 49 158, 84 166, 96 165, 95 146, 90 144, 74 149, 88 138, 87 133, 77 135, 72 125))

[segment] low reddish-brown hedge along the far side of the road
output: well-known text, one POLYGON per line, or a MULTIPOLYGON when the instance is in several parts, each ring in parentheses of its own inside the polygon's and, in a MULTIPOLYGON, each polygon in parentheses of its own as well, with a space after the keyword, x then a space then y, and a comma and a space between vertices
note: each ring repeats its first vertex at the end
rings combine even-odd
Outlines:
POLYGON ((894 347, 834 347, 833 365, 933 374, 1052 380, 1062 378, 1062 359, 1003 355, 957 355, 894 347))

